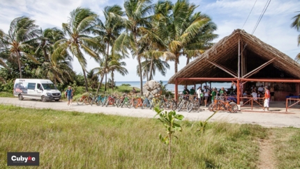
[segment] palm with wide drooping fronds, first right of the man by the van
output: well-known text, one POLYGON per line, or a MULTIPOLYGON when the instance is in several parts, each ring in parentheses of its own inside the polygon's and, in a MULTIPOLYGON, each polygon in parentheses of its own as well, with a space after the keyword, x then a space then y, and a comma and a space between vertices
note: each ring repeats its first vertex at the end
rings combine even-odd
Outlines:
POLYGON ((89 8, 76 8, 70 13, 68 23, 63 23, 63 31, 68 35, 68 39, 57 41, 54 46, 57 49, 54 51, 54 57, 61 56, 61 51, 68 49, 70 53, 75 56, 81 67, 84 75, 85 90, 88 91, 88 81, 86 75, 87 60, 84 58, 84 53, 94 58, 97 62, 100 57, 96 50, 101 49, 97 38, 89 36, 96 25, 97 15, 89 8))

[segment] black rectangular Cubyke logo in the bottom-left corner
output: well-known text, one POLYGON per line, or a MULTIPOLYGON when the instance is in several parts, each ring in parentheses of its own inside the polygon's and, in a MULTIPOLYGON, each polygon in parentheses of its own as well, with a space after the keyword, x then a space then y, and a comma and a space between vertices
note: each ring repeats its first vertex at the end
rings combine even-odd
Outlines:
POLYGON ((39 152, 8 152, 7 166, 39 166, 39 152))

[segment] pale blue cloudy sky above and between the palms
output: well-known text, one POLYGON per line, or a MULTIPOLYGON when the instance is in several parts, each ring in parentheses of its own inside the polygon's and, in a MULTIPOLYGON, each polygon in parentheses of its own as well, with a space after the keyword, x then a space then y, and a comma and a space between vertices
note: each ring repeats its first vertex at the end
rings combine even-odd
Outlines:
MULTIPOLYGON (((252 13, 250 14, 248 21, 243 29, 252 33, 257 19, 260 17, 262 10, 268 0, 197 0, 190 1, 199 6, 196 11, 201 11, 209 15, 213 22, 218 26, 216 33, 219 38, 213 42, 230 35, 234 29, 241 29, 248 14, 250 13, 253 4, 252 13)), ((36 24, 42 29, 57 27, 61 29, 61 23, 67 22, 70 12, 75 8, 81 6, 84 8, 90 8, 97 13, 100 19, 103 19, 103 8, 105 6, 112 6, 119 4, 123 6, 124 1, 108 1, 108 0, 2 0, 0 3, 0 29, 8 32, 10 22, 15 17, 27 16, 36 20, 36 24)), ((153 1, 154 3, 156 1, 153 1)), ((173 1, 175 3, 176 1, 173 1)), ((269 7, 267 8, 264 17, 257 26, 257 29, 253 35, 260 38, 263 42, 275 47, 279 51, 287 54, 291 58, 297 56, 300 53, 300 47, 297 47, 297 36, 299 32, 296 29, 291 29, 292 17, 297 15, 299 11, 299 0, 271 0, 269 7)), ((91 70, 93 67, 97 67, 98 64, 87 56, 88 65, 87 69, 91 70)), ((137 61, 132 58, 127 58, 127 70, 129 72, 126 77, 122 77, 119 74, 115 74, 116 81, 139 81, 136 74, 137 61)), ((174 74, 174 62, 170 62, 170 70, 167 70, 165 77, 160 74, 156 74, 155 80, 168 80, 174 74)), ((186 65, 186 59, 182 57, 180 59, 179 70, 186 65)), ((81 72, 82 69, 75 61, 73 63, 73 69, 76 72, 81 72)))

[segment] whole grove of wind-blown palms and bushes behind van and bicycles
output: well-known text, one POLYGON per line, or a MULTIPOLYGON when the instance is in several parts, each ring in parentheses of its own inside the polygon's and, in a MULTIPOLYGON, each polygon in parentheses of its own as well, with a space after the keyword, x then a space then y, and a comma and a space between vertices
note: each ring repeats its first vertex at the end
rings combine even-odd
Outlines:
POLYGON ((42 29, 29 17, 17 17, 8 33, 0 30, 0 90, 8 91, 6 85, 16 78, 50 79, 61 90, 73 84, 86 92, 98 92, 104 82, 105 91, 113 90, 115 74, 128 74, 123 59, 130 56, 137 59, 142 88, 143 79, 165 76, 170 61, 177 72, 180 56, 188 64, 213 45, 216 24, 197 7, 187 0, 125 0, 123 6, 106 6, 103 20, 78 7, 61 29, 42 29), (99 66, 88 67, 87 58, 99 66), (75 60, 82 72, 73 71, 75 60))

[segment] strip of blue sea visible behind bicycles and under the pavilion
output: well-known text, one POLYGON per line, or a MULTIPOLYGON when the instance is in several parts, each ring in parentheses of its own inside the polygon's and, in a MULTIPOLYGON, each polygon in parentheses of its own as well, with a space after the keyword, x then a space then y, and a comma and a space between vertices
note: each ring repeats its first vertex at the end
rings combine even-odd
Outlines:
MULTIPOLYGON (((158 81, 159 82, 159 81, 158 81)), ((143 81, 143 85, 144 83, 146 83, 146 81, 143 81)), ((135 88, 140 88, 140 81, 116 81, 116 86, 121 86, 121 84, 130 84, 130 86, 135 87, 135 88)), ((175 90, 175 85, 174 84, 168 84, 167 81, 163 81, 163 85, 167 84, 166 88, 167 90, 170 91, 174 91, 175 90)), ((232 83, 213 83, 211 82, 211 88, 217 88, 218 90, 220 90, 220 88, 224 87, 225 90, 227 90, 227 88, 231 87, 232 83)), ((196 89, 200 86, 200 84, 196 84, 196 89)), ((205 86, 205 83, 202 84, 202 86, 205 86)), ((207 83, 207 86, 209 86, 209 83, 207 83)), ((188 90, 190 90, 190 88, 194 87, 193 85, 189 85, 188 86, 188 90)), ((181 92, 183 91, 184 86, 183 85, 179 85, 178 86, 178 91, 181 92)))

